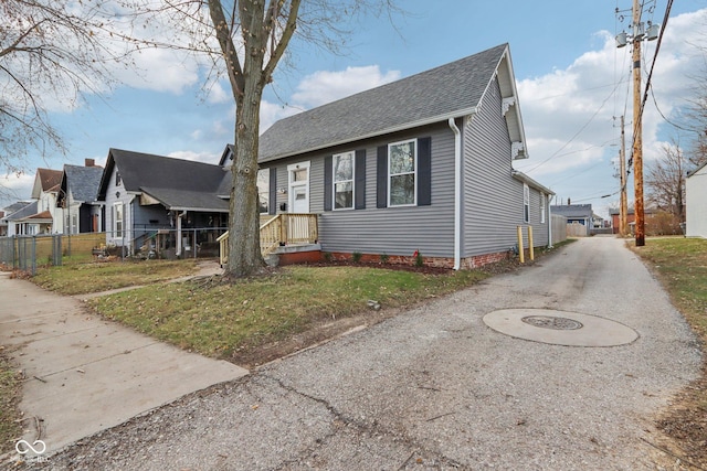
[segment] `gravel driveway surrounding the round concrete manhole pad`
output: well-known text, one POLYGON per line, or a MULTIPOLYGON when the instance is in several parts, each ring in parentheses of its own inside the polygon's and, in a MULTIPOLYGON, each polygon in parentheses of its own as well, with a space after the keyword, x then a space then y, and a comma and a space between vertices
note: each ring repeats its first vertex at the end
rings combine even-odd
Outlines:
POLYGON ((534 266, 272 363, 51 457, 52 469, 655 469, 653 417, 697 377, 697 342, 623 242, 534 266), (498 333, 548 308, 634 329, 611 347, 498 333))

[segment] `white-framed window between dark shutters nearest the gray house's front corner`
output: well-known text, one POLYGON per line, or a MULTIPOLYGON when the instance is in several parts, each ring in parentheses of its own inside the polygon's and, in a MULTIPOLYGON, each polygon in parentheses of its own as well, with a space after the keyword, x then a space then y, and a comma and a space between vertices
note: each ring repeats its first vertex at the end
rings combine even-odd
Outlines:
POLYGON ((388 205, 416 204, 418 141, 415 139, 388 146, 388 205))

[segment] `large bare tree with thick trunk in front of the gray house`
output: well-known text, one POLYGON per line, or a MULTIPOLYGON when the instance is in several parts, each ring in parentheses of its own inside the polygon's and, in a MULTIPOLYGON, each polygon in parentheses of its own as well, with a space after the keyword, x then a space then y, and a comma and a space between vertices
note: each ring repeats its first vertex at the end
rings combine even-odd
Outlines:
MULTIPOLYGON (((220 74, 229 78, 235 101, 235 132, 226 274, 251 275, 264 265, 257 205, 264 88, 273 82, 276 67, 293 45, 316 45, 340 53, 358 17, 392 15, 399 10, 394 0, 167 0, 166 4, 160 14, 167 14, 173 28, 189 30, 189 42, 182 47, 211 57, 212 81, 220 74)), ((156 41, 155 45, 166 44, 156 41)))

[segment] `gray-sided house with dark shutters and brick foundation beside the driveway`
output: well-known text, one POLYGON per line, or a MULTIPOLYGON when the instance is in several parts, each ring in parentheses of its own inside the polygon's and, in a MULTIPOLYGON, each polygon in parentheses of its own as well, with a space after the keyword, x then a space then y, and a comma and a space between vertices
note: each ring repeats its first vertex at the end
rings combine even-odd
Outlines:
POLYGON ((525 158, 502 44, 277 121, 260 139, 261 201, 271 214, 319 214, 321 250, 335 256, 419 251, 471 268, 506 257, 517 226, 549 245, 553 193, 514 170, 525 158))

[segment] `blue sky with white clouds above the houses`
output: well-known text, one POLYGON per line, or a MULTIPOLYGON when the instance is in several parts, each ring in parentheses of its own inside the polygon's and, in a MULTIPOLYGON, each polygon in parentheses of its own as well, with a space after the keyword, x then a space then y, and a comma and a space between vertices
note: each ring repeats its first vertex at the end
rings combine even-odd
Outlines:
MULTIPOLYGON (((352 23, 341 54, 294 43, 287 52, 292 66, 283 63, 265 90, 261 132, 302 110, 508 43, 529 156, 514 167, 550 188, 553 204, 592 204, 608 217, 619 201, 622 115, 631 153, 631 47, 618 49, 614 36, 631 31, 632 1, 399 3, 403 17, 371 15, 352 23)), ((643 21, 663 21, 668 0, 642 3, 643 21)), ((642 43, 644 86, 656 44, 642 43)), ((218 163, 234 135, 228 83, 204 90, 208 69, 173 52, 147 51, 137 62, 137 71, 115 71, 124 85, 102 97, 87 96, 81 107, 51 113, 70 151, 31 158, 22 175, 0 175, 14 200, 29 199, 38 167, 61 170, 87 158, 102 164, 110 148, 218 163)), ((663 146, 689 140, 688 131, 671 122, 685 122, 706 65, 707 0, 675 2, 643 115, 644 165, 661 157, 663 146)), ((0 207, 11 202, 0 196, 0 207)))

